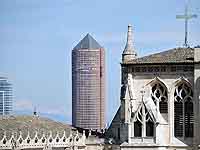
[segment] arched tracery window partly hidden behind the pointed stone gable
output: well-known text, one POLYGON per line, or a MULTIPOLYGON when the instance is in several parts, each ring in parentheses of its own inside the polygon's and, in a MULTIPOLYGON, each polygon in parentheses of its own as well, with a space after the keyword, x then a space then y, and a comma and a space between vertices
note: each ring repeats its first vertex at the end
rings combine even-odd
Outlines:
POLYGON ((167 88, 162 83, 155 83, 151 88, 151 98, 160 113, 168 112, 167 88))

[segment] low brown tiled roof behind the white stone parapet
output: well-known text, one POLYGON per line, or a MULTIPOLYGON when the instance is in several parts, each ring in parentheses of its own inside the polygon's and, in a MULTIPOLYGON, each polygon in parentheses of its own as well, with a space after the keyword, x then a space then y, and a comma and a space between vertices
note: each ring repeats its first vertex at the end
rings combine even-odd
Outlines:
MULTIPOLYGON (((11 133, 22 132, 23 138, 25 138, 30 133, 30 137, 33 138, 35 132, 38 131, 38 136, 41 137, 43 133, 49 134, 52 132, 52 136, 55 137, 56 133, 63 134, 63 131, 66 132, 66 135, 69 136, 70 131, 75 129, 71 125, 64 123, 56 122, 48 118, 43 118, 39 116, 7 116, 0 117, 0 140, 3 138, 4 131, 6 131, 7 138, 11 137, 11 133)), ((61 136, 60 135, 60 136, 61 136)))

